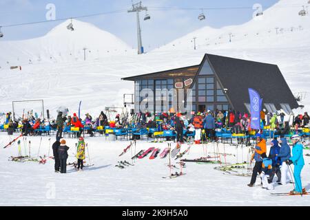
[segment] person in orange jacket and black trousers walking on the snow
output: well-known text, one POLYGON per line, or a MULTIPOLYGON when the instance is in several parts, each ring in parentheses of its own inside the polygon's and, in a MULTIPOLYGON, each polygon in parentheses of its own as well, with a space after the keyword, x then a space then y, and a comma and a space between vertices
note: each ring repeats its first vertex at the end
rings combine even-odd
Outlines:
POLYGON ((267 152, 266 148, 266 140, 262 138, 260 133, 255 135, 256 137, 256 146, 254 148, 254 154, 252 155, 251 159, 255 159, 255 165, 253 168, 253 173, 251 177, 251 182, 247 184, 249 187, 253 187, 256 181, 257 173, 262 173, 262 153, 267 152))

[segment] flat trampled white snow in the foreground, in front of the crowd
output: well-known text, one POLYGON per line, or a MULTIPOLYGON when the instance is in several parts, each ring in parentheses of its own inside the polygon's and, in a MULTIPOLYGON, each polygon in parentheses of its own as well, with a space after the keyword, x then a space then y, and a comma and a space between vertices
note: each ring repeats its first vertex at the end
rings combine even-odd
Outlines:
MULTIPOLYGON (((17 135, 14 135, 17 136, 17 135)), ((50 137, 43 137, 40 155, 48 155, 50 137)), ((53 138, 52 138, 53 139, 53 138)), ((31 154, 37 157, 40 137, 27 137, 31 140, 31 154)), ((76 139, 67 138, 70 146, 68 162, 76 161, 74 143, 76 139)), ((1 146, 9 141, 6 133, 0 133, 1 146)), ((218 164, 186 163, 183 172, 186 175, 174 179, 163 179, 169 175, 168 158, 137 159, 134 166, 124 169, 115 167, 118 161, 132 162, 131 151, 118 157, 129 141, 109 142, 105 137, 86 137, 91 163, 82 172, 76 172, 67 166, 67 174, 54 173, 54 161, 48 159, 46 164, 38 162, 11 162, 8 157, 17 155, 17 144, 0 149, 0 206, 309 206, 310 197, 271 197, 270 192, 287 192, 293 188, 275 186, 275 190, 265 190, 260 186, 249 188, 250 177, 223 175, 223 171, 214 170, 218 164), (55 197, 49 199, 50 186, 55 187, 55 197)), ((52 144, 52 142, 51 142, 52 144)), ((138 141, 136 152, 150 146, 167 147, 166 143, 138 141)), ((174 147, 174 144, 172 144, 174 147)), ((187 144, 183 144, 185 150, 187 144)), ((268 147, 269 148, 269 147, 268 147)), ((224 146, 219 144, 220 152, 224 146)), ((134 148, 132 148, 134 151, 134 148)), ((208 155, 213 155, 213 144, 207 145, 208 155)), ((21 140, 21 152, 24 152, 21 140)), ((27 151, 28 153, 28 148, 27 151)), ((236 147, 225 144, 226 153, 236 154, 236 147)), ((247 160, 248 148, 243 147, 243 159, 247 160)), ((52 149, 50 149, 52 153, 52 149)), ((134 152, 133 152, 134 153, 134 152)), ((304 151, 308 153, 308 151, 304 151)), ((23 153, 24 154, 24 153, 23 153)), ((87 155, 85 161, 89 163, 87 155)), ((202 146, 193 145, 189 155, 184 158, 203 156, 202 146)), ((224 157, 222 157, 224 158, 224 157)), ((238 148, 238 162, 241 162, 241 149, 238 148)), ((227 156, 227 162, 236 163, 236 157, 227 156)), ((304 157, 306 164, 310 158, 304 157)), ((224 159, 222 159, 224 162, 224 159)), ((172 159, 172 164, 176 161, 172 159)), ((178 164, 176 164, 177 167, 178 164)), ((180 169, 172 169, 172 172, 180 169)), ((310 189, 310 168, 304 166, 302 183, 310 189)), ((259 178, 256 183, 259 183, 259 178)))

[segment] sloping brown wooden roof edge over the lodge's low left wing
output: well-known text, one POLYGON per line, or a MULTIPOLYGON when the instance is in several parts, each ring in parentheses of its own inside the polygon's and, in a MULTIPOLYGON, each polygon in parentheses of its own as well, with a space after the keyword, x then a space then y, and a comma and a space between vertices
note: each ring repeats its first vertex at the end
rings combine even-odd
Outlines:
POLYGON ((200 65, 194 65, 189 67, 182 67, 178 69, 169 69, 162 72, 156 72, 152 74, 143 74, 138 76, 130 76, 122 78, 122 80, 142 80, 142 79, 154 79, 154 78, 172 78, 177 76, 192 76, 194 77, 198 72, 200 65))

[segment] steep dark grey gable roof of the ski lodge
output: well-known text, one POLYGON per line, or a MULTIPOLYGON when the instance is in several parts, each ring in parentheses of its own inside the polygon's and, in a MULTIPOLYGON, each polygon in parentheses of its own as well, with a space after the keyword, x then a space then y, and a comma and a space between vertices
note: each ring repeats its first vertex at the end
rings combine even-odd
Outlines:
POLYGON ((291 109, 298 107, 277 65, 212 54, 205 54, 205 58, 223 88, 228 89, 227 95, 234 109, 247 111, 244 103, 249 103, 249 88, 258 91, 263 103, 273 103, 278 110, 280 103, 289 104, 291 109))

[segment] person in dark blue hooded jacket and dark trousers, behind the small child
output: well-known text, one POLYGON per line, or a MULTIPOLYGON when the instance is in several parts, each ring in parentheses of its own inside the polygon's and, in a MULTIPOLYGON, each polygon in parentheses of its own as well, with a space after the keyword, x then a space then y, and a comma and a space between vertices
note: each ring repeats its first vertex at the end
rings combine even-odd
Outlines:
POLYGON ((278 156, 279 153, 280 153, 280 146, 278 144, 278 141, 276 139, 272 140, 271 148, 269 151, 269 158, 272 159, 272 168, 271 168, 271 174, 269 178, 271 182, 273 181, 273 177, 275 174, 278 177, 277 183, 280 183, 281 181, 281 170, 280 170, 281 159, 278 156))

